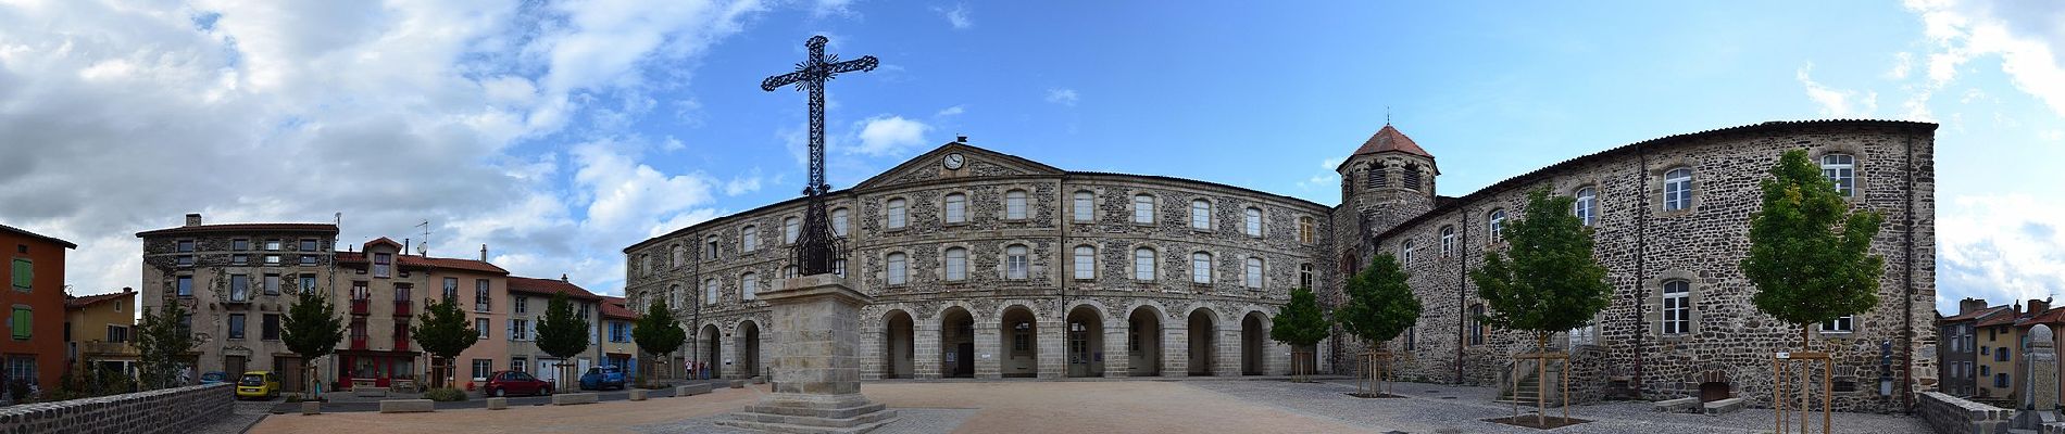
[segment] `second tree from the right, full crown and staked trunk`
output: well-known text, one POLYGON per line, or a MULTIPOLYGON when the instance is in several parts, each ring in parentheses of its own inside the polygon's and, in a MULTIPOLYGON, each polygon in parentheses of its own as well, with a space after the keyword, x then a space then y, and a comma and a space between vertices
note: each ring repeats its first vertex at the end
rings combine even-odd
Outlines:
MULTIPOLYGON (((1470 269, 1476 296, 1491 309, 1479 321, 1534 333, 1538 354, 1549 352, 1551 333, 1590 323, 1613 296, 1607 267, 1592 257, 1592 228, 1578 220, 1574 204, 1578 200, 1551 195, 1547 187, 1528 191, 1522 218, 1503 224, 1510 247, 1485 251, 1485 265, 1470 269)), ((1540 387, 1547 364, 1547 358, 1536 362, 1536 391, 1549 391, 1540 387)), ((1547 393, 1536 393, 1534 401, 1536 424, 1545 424, 1547 393)))

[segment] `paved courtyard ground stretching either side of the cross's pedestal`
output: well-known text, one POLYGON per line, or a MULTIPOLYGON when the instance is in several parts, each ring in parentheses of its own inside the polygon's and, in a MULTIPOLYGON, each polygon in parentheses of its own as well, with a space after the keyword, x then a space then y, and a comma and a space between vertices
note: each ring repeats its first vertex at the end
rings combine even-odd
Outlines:
MULTIPOLYGON (((1348 381, 954 381, 867 383, 902 411, 878 432, 1536 432, 1483 420, 1512 415, 1489 387, 1400 383, 1406 399, 1357 399, 1348 381)), ((764 385, 710 395, 504 411, 271 415, 250 432, 737 432, 712 422, 754 403, 764 385)), ((1594 420, 1553 432, 1770 432, 1772 413, 1656 413, 1648 403, 1574 407, 1594 420)), ((1555 415, 1555 409, 1551 409, 1555 415)), ((1838 413, 1836 432, 1929 432, 1916 418, 1838 413)))

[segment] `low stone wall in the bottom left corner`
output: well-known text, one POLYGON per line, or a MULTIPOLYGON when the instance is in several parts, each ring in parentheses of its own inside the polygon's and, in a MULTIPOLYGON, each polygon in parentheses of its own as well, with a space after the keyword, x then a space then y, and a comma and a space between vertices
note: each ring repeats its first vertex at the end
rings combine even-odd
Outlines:
POLYGON ((233 411, 233 385, 0 407, 0 432, 194 432, 233 411))

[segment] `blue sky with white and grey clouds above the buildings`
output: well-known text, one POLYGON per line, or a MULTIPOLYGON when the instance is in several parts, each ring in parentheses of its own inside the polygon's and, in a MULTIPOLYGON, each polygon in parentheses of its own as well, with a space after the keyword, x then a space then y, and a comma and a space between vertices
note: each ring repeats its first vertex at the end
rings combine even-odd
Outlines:
POLYGON ((134 232, 330 222, 622 294, 622 249, 795 197, 809 35, 851 187, 968 136, 1338 204, 1394 123, 1464 195, 1660 136, 1937 121, 1937 306, 2065 290, 2065 2, 0 0, 0 224, 74 294, 134 232), (427 226, 417 226, 430 222, 427 226))

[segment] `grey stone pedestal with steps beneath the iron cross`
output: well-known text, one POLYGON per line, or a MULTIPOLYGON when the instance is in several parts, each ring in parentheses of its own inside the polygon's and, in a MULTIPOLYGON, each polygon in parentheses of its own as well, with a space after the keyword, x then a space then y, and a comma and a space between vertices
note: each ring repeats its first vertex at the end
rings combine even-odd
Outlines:
POLYGON ((861 306, 867 294, 832 274, 783 280, 760 292, 772 311, 774 393, 721 426, 766 432, 869 432, 894 409, 861 395, 861 306))

